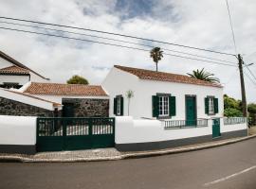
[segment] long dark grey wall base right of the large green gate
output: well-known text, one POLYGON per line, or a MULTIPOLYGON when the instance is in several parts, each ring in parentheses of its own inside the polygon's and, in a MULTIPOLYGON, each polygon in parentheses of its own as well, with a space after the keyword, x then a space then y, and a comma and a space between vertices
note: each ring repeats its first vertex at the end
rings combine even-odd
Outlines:
POLYGON ((164 149, 169 147, 177 146, 188 146, 200 143, 211 142, 215 140, 223 140, 234 137, 247 136, 247 129, 231 131, 222 133, 221 137, 212 138, 212 135, 205 135, 199 137, 192 137, 186 139, 177 139, 170 141, 160 141, 151 143, 133 143, 133 144, 116 144, 116 148, 119 151, 143 151, 143 150, 154 150, 154 149, 164 149))

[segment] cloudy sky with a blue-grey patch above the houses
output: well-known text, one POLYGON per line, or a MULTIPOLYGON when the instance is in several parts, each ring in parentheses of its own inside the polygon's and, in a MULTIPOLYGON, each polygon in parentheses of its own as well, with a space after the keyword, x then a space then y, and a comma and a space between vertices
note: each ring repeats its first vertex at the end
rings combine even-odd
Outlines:
MULTIPOLYGON (((254 62, 249 68, 256 75, 256 1, 229 0, 229 9, 237 52, 232 41, 229 13, 225 0, 0 0, 0 16, 66 26, 79 26, 231 54, 240 53, 247 63, 254 62)), ((1 23, 3 21, 7 22, 7 20, 0 19, 0 26, 82 40, 117 43, 148 50, 138 51, 100 43, 67 40, 0 29, 0 50, 43 76, 49 77, 52 82, 66 82, 69 77, 80 75, 86 77, 90 84, 101 84, 115 64, 155 70, 155 63, 150 58, 150 48, 147 47, 78 34, 26 26, 13 26, 1 23)), ((233 56, 218 55, 174 45, 143 42, 137 39, 84 30, 56 26, 45 27, 115 38, 132 43, 160 46, 165 49, 214 59, 229 60, 234 65, 237 63, 233 56)), ((166 50, 164 50, 164 53, 184 56, 166 50)), ((235 66, 230 67, 206 61, 187 60, 168 55, 164 55, 164 58, 158 64, 159 71, 183 75, 191 73, 192 70, 202 68, 220 78, 225 94, 241 98, 239 72, 235 66)), ((245 72, 246 75, 249 75, 247 69, 245 72)), ((256 102, 256 85, 247 76, 245 76, 245 80, 247 101, 256 102)))

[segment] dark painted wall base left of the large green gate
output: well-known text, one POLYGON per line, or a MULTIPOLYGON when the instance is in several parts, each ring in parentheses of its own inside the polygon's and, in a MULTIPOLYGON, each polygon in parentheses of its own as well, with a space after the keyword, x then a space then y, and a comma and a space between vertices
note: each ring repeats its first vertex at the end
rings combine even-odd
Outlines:
POLYGON ((35 154, 36 146, 0 145, 0 153, 35 154))

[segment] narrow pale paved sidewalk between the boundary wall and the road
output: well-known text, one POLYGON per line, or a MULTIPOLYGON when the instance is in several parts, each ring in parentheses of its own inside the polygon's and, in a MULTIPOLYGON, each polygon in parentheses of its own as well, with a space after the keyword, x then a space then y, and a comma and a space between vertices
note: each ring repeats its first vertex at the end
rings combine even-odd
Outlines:
POLYGON ((116 148, 88 149, 77 151, 40 152, 35 155, 25 154, 0 154, 0 162, 21 162, 21 163, 70 163, 70 162, 93 162, 122 160, 129 158, 142 158, 165 154, 189 152, 199 149, 206 149, 215 146, 225 146, 256 137, 256 127, 249 129, 247 137, 232 138, 228 140, 212 141, 210 143, 197 144, 192 146, 180 146, 151 151, 129 151, 119 152, 116 148))

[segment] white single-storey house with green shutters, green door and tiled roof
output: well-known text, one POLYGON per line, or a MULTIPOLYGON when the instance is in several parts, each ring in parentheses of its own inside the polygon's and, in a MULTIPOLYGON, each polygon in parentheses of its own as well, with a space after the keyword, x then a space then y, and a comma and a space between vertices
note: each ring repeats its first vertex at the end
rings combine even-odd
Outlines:
POLYGON ((110 97, 110 116, 128 115, 128 90, 134 92, 129 112, 135 119, 192 122, 224 112, 223 87, 188 76, 115 65, 102 87, 110 97))

